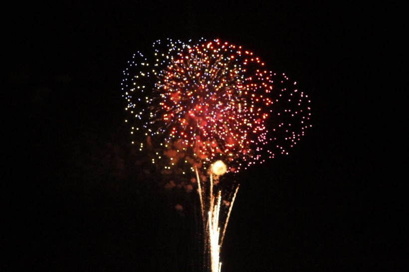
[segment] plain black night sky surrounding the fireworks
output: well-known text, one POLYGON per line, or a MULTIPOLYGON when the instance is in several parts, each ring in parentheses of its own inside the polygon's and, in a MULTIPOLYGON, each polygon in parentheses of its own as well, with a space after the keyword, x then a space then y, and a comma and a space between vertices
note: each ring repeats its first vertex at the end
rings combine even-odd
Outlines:
POLYGON ((391 184, 398 165, 386 169, 394 150, 380 111, 394 105, 378 97, 402 40, 390 31, 396 10, 355 1, 6 4, 1 270, 195 271, 194 196, 141 178, 120 83, 132 54, 156 39, 205 37, 250 48, 312 100, 313 128, 290 155, 240 176, 222 271, 400 271, 404 228, 391 226, 407 213, 406 185, 391 184))

